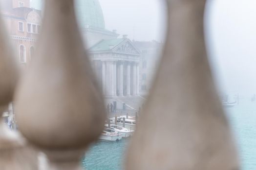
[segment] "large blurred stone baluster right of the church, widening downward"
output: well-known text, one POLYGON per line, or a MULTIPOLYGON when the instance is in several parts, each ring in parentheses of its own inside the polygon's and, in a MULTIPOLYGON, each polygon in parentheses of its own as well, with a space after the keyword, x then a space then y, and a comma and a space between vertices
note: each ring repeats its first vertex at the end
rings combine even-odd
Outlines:
POLYGON ((205 0, 167 0, 164 55, 126 170, 238 170, 204 42, 205 0))

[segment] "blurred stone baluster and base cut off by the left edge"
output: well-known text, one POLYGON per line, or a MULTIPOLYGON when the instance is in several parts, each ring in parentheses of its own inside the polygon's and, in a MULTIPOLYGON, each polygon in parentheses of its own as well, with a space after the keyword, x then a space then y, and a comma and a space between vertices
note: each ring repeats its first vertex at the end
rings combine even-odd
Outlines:
POLYGON ((2 18, 0 25, 0 170, 36 170, 37 152, 19 133, 9 131, 2 120, 2 113, 13 101, 19 69, 2 18))

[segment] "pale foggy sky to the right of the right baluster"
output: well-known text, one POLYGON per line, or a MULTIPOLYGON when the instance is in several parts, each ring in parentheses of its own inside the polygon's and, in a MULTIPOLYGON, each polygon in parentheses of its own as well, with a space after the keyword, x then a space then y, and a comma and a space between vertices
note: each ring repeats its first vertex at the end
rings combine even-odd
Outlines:
POLYGON ((256 93, 256 0, 209 0, 207 44, 218 83, 256 93))

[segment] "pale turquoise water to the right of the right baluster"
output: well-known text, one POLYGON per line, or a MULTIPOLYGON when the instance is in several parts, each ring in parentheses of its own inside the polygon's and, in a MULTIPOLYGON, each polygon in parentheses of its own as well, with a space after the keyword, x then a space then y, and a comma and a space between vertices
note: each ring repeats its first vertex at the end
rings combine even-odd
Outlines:
POLYGON ((243 99, 227 116, 234 132, 242 170, 256 170, 256 102, 243 99))

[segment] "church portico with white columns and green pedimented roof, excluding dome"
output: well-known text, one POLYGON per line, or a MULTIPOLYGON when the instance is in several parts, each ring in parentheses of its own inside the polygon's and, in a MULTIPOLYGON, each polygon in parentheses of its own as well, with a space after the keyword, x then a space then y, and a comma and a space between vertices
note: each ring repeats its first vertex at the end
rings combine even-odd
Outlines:
POLYGON ((106 97, 139 95, 141 54, 126 36, 102 40, 88 53, 106 97))

